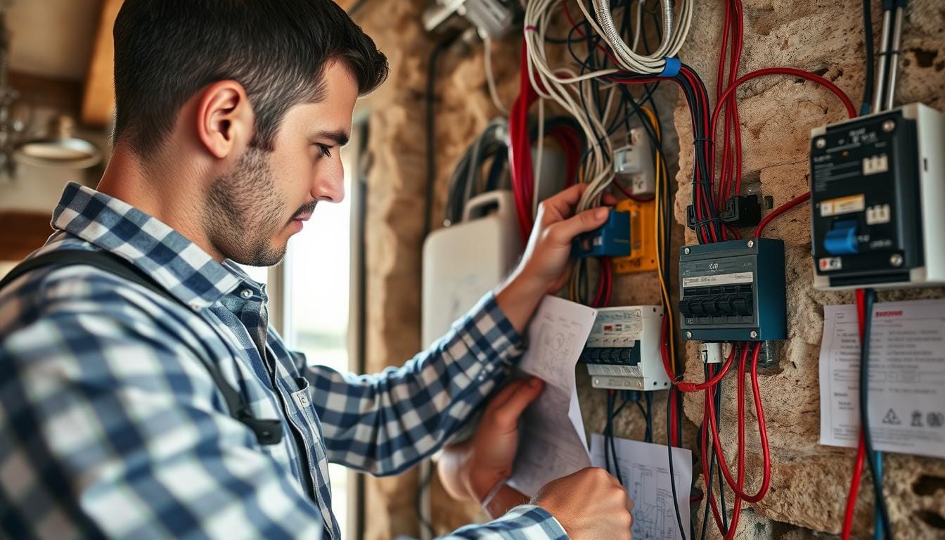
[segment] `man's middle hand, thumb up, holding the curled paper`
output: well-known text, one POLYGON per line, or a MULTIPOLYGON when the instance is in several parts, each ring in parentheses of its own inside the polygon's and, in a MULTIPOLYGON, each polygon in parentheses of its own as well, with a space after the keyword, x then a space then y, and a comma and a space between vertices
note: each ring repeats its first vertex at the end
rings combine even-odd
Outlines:
MULTIPOLYGON (((544 383, 529 377, 508 383, 490 399, 471 440, 447 446, 437 470, 447 492, 456 499, 482 502, 493 487, 512 475, 512 462, 519 446, 519 418, 528 404, 541 393, 544 383)), ((505 487, 490 505, 498 515, 525 502, 525 496, 505 487)))

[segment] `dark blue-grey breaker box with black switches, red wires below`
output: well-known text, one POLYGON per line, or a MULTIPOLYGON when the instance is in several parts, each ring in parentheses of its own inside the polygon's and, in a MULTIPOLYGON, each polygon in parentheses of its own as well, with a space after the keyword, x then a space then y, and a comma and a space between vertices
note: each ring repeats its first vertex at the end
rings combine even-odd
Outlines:
POLYGON ((787 339, 782 240, 686 246, 679 252, 679 281, 686 340, 787 339))

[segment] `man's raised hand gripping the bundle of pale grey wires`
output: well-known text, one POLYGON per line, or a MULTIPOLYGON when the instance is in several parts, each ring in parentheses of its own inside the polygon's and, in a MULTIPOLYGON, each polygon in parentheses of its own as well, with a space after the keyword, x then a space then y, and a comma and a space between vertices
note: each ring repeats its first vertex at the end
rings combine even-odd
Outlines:
MULTIPOLYGON (((558 292, 568 282, 572 240, 607 221, 610 209, 606 207, 575 213, 586 187, 586 183, 578 183, 541 201, 522 262, 496 295, 499 307, 520 333, 541 298, 558 292)), ((616 200, 605 195, 603 202, 611 205, 616 200)))

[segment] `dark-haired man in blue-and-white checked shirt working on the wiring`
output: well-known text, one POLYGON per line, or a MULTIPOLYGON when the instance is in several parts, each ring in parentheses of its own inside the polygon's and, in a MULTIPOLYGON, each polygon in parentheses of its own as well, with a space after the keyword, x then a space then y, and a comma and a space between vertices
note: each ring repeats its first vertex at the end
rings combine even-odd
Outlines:
MULTIPOLYGON (((54 266, 0 292, 0 535, 337 538, 328 462, 396 474, 444 444, 607 211, 573 216, 580 188, 543 203, 507 284, 404 368, 309 366, 233 263, 278 263, 317 203, 342 199, 338 148, 384 55, 328 0, 126 0, 114 37, 112 160, 96 190, 66 187, 34 256, 111 254, 146 281, 54 266)), ((504 487, 540 390, 500 392, 448 467, 502 514, 454 536, 628 538, 627 497, 599 469, 529 504, 504 487)))

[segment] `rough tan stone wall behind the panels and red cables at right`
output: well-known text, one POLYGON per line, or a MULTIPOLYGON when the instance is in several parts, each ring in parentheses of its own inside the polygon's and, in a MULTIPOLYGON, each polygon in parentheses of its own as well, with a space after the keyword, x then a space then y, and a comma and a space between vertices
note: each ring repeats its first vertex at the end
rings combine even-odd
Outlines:
MULTIPOLYGON (((745 54, 741 74, 769 66, 791 66, 821 73, 831 79, 859 105, 862 96, 863 39, 860 9, 851 0, 811 2, 810 0, 747 0, 745 54)), ((721 2, 697 4, 696 21, 682 50, 682 59, 696 68, 714 98, 717 70, 718 29, 724 15, 721 2)), ((880 14, 874 13, 879 28, 880 14)), ((878 31, 877 31, 878 40, 878 31)), ((945 8, 939 2, 910 3, 904 27, 902 72, 897 101, 924 101, 938 109, 945 100, 945 8)), ((744 140, 747 177, 761 179, 765 195, 775 205, 794 199, 808 190, 807 148, 809 131, 818 125, 845 117, 844 109, 828 91, 814 83, 794 78, 767 77, 748 82, 739 91, 739 112, 744 140)), ((691 197, 687 183, 692 170, 689 113, 684 103, 677 109, 677 129, 682 141, 680 156, 677 219, 691 197)), ((810 218, 804 208, 793 210, 773 222, 765 231, 786 243, 786 272, 789 340, 782 347, 780 373, 763 376, 761 392, 765 404, 767 433, 772 453, 771 490, 754 505, 759 516, 782 522, 780 529, 793 524, 807 528, 784 532, 783 538, 808 538, 814 531, 839 531, 847 487, 851 478, 852 450, 817 444, 819 397, 817 355, 820 345, 823 305, 848 304, 851 293, 829 293, 811 287, 810 218)), ((687 231, 687 241, 695 237, 687 231)), ((941 289, 903 290, 881 293, 880 300, 941 297, 941 289)), ((687 378, 701 378, 694 346, 689 347, 687 378)), ((727 380, 723 404, 724 432, 735 430, 734 381, 727 380)), ((701 418, 702 396, 686 400, 690 419, 701 418)), ((750 409, 749 409, 750 410, 750 409)), ((761 466, 753 414, 749 414, 747 436, 748 490, 760 484, 761 466)), ((735 440, 725 437, 726 456, 733 459, 735 440)), ((897 538, 942 537, 940 523, 945 512, 945 480, 942 461, 887 455, 885 493, 897 538), (924 479, 924 480, 920 480, 924 479), (917 483, 918 482, 918 483, 917 483), (918 486, 918 487, 917 487, 918 486)), ((854 534, 867 534, 872 527, 872 496, 866 482, 855 514, 854 534)), ((743 515, 744 518, 744 515, 743 515)), ((714 529, 714 528, 713 528, 714 529)), ((777 529, 777 528, 776 528, 777 529)), ((772 529, 774 531, 774 529, 772 529)), ((748 530, 739 537, 752 537, 748 530)))

